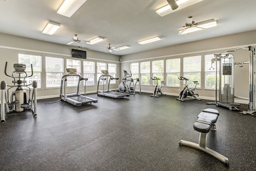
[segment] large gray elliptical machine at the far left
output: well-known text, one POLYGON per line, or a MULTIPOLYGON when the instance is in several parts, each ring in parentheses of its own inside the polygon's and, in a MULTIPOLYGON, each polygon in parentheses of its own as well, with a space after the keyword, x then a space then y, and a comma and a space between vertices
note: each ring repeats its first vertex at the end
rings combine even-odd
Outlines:
POLYGON ((31 75, 28 76, 26 73, 26 65, 15 63, 13 65, 15 69, 12 72, 12 75, 8 75, 7 70, 7 62, 5 65, 4 74, 8 77, 12 77, 14 80, 12 83, 14 85, 6 84, 6 81, 1 82, 1 123, 5 122, 6 114, 11 112, 21 112, 21 111, 28 111, 30 110, 33 116, 37 116, 36 106, 37 106, 37 82, 34 80, 30 84, 26 84, 26 78, 33 76, 33 66, 31 64, 31 75), (25 75, 24 75, 25 74, 25 75), (16 80, 17 79, 17 80, 16 80), (17 84, 17 85, 16 85, 17 84), (29 87, 32 85, 32 95, 31 95, 31 88, 29 87), (10 87, 6 90, 7 87, 10 87), (11 98, 9 101, 9 89, 17 87, 15 91, 12 91, 11 98), (23 90, 22 87, 29 88, 29 96, 27 96, 26 90, 23 90), (30 96, 31 95, 31 96, 30 96))

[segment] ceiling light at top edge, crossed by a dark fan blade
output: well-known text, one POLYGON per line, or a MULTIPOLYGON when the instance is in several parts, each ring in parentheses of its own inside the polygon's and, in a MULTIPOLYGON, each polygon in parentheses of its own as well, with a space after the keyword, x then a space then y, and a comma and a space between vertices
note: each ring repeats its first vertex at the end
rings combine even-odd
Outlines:
POLYGON ((157 14, 159 14, 161 17, 171 14, 172 12, 178 11, 180 9, 186 8, 188 6, 191 6, 195 3, 198 3, 202 0, 177 0, 176 3, 179 6, 177 9, 172 10, 171 6, 168 4, 167 6, 164 6, 160 9, 157 9, 157 14))

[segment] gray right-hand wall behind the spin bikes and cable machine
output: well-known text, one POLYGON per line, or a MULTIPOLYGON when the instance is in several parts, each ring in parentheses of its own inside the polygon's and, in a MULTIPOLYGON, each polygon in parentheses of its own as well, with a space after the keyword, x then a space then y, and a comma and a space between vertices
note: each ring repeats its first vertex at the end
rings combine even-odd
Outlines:
MULTIPOLYGON (((150 51, 143 51, 135 54, 128 54, 122 56, 121 71, 123 69, 130 70, 130 63, 152 61, 152 60, 165 60, 176 57, 189 57, 201 55, 201 89, 198 90, 198 94, 205 99, 214 99, 215 91, 204 89, 204 55, 215 54, 230 49, 235 49, 240 46, 253 45, 256 46, 256 30, 248 31, 239 34, 232 34, 222 37, 215 37, 206 40, 200 40, 190 43, 179 44, 175 46, 168 46, 164 48, 157 48, 150 51)), ((146 46, 146 45, 145 45, 146 46)), ((235 61, 248 61, 249 51, 239 50, 233 53, 235 61)), ((181 60, 182 61, 182 60, 181 60)), ((181 74, 182 74, 181 63, 181 74)), ((235 94, 236 96, 248 97, 249 90, 249 66, 242 68, 235 68, 235 94)), ((164 73, 166 75, 166 73, 164 73)), ((166 81, 166 80, 164 80, 166 81)), ((151 83, 152 84, 152 83, 151 83)), ((182 85, 180 85, 182 86, 182 85)), ((154 85, 142 86, 142 90, 145 92, 151 92, 154 89, 154 85)), ((171 95, 177 95, 180 88, 164 87, 163 92, 171 95)))

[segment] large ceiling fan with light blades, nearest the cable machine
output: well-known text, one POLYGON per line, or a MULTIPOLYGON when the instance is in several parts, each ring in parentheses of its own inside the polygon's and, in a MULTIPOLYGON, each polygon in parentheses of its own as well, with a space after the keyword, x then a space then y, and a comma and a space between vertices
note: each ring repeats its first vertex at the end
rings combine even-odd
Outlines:
POLYGON ((207 23, 211 23, 211 22, 214 22, 215 20, 214 19, 210 19, 210 20, 204 20, 204 21, 201 21, 201 22, 198 22, 198 23, 195 23, 195 21, 193 21, 192 19, 192 16, 191 17, 188 17, 186 19, 186 23, 185 23, 185 26, 183 26, 182 29, 179 30, 179 34, 185 34, 184 32, 187 30, 187 29, 191 29, 191 28, 198 28, 198 30, 201 30, 201 29, 206 29, 206 27, 202 27, 202 25, 205 25, 207 23))

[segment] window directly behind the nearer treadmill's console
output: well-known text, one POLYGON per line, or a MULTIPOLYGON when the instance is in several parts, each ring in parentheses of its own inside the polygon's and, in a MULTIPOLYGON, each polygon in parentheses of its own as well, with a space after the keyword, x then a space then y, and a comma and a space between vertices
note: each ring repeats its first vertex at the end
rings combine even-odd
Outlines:
MULTIPOLYGON (((81 75, 81 60, 68 60, 67 68, 76 68, 77 74, 81 75)), ((79 77, 67 77, 67 86, 77 86, 79 77)))

